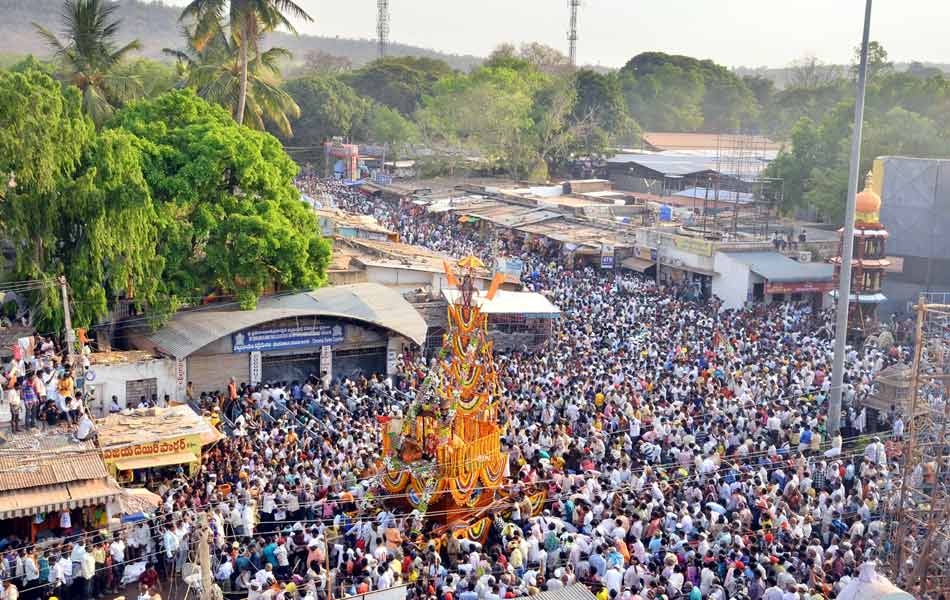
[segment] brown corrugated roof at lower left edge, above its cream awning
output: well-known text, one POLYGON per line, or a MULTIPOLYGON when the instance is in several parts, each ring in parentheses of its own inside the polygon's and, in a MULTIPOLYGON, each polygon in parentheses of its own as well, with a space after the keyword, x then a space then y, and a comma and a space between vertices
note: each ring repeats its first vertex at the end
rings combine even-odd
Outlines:
POLYGON ((92 442, 68 435, 17 435, 0 447, 0 491, 108 476, 92 442))

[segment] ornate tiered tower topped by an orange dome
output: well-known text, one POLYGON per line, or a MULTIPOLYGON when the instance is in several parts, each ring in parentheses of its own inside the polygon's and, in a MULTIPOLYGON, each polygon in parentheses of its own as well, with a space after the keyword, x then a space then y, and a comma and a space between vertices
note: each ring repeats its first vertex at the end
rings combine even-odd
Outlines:
MULTIPOLYGON (((881 196, 875 191, 871 172, 864 189, 855 198, 854 248, 851 259, 851 297, 848 304, 848 329, 865 336, 877 329, 877 307, 887 298, 881 293, 884 272, 890 265, 885 252, 887 230, 881 224, 881 196)), ((835 279, 841 275, 841 254, 844 230, 838 234, 842 241, 838 256, 831 259, 835 265, 835 279)), ((834 292, 836 293, 836 292, 834 292)))

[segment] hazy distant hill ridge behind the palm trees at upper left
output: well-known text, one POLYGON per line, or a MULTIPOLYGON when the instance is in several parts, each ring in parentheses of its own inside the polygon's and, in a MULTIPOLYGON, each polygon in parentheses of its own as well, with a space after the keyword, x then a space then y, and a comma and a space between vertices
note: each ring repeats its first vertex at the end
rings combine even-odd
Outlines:
MULTIPOLYGON (((117 13, 122 19, 121 41, 124 43, 138 38, 142 42, 143 56, 163 58, 162 48, 180 48, 183 45, 178 23, 180 7, 137 0, 118 0, 118 4, 120 7, 117 13)), ((61 10, 61 0, 0 0, 0 54, 48 55, 49 48, 36 35, 31 23, 35 21, 57 33, 60 29, 61 10)), ((346 57, 354 66, 376 58, 376 41, 372 39, 353 40, 311 35, 295 37, 286 33, 275 33, 270 36, 269 42, 287 48, 294 53, 296 59, 303 59, 311 50, 346 57)), ((482 61, 477 56, 445 54, 398 43, 390 43, 389 54, 438 58, 455 69, 465 71, 482 61)))

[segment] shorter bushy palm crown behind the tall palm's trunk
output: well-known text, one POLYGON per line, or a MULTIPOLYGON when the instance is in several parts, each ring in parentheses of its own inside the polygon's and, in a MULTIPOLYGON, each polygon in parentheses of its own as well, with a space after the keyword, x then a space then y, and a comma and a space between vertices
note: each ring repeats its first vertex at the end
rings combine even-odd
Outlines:
MULTIPOLYGON (((162 52, 178 60, 184 84, 195 88, 199 96, 209 102, 229 108, 233 114, 240 106, 242 67, 239 45, 223 27, 214 28, 210 37, 201 44, 193 31, 185 29, 186 50, 163 48, 162 52)), ((278 62, 289 57, 283 48, 271 48, 258 54, 248 65, 243 118, 252 127, 264 129, 270 123, 286 137, 293 131, 290 118, 300 116, 294 99, 280 87, 278 62)))

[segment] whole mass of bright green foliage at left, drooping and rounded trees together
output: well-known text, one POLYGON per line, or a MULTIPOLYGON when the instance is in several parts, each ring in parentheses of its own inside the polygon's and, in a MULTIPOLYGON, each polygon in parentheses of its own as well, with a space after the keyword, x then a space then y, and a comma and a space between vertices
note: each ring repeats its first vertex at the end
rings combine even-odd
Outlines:
MULTIPOLYGON (((330 247, 296 172, 275 138, 191 90, 133 103, 96 132, 76 88, 0 71, 12 276, 66 275, 76 326, 119 299, 160 319, 211 292, 251 307, 269 289, 323 284, 330 247)), ((38 325, 59 328, 58 292, 34 300, 38 325)))

